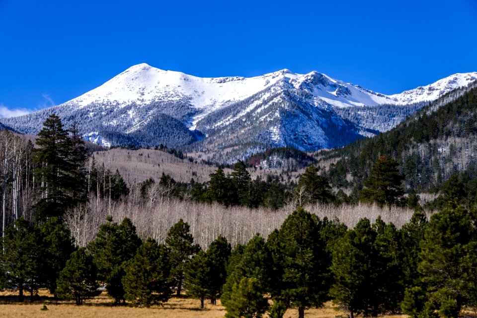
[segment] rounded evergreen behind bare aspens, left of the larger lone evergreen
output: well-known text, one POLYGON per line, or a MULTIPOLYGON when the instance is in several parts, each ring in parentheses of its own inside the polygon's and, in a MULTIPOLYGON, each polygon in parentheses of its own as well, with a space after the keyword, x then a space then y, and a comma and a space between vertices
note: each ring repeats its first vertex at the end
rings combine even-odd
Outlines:
POLYGON ((296 192, 296 196, 306 194, 306 199, 299 202, 302 206, 305 203, 329 203, 334 200, 329 180, 318 175, 318 168, 314 165, 310 165, 300 176, 296 192))

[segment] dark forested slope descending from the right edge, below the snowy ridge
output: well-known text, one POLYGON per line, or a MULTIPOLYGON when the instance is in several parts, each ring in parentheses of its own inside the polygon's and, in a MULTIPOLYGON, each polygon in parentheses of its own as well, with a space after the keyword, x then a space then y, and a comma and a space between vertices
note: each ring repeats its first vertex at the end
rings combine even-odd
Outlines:
POLYGON ((455 172, 477 176, 477 85, 473 86, 441 96, 386 133, 320 153, 319 164, 329 166, 326 175, 334 186, 349 190, 359 187, 377 158, 387 154, 399 163, 405 186, 417 191, 436 189, 455 172))

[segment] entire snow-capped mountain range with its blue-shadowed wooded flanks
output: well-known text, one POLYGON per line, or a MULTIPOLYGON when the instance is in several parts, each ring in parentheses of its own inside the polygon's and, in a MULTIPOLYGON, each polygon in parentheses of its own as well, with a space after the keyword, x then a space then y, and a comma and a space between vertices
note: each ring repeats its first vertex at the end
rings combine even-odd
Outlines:
POLYGON ((477 73, 456 74, 384 95, 315 71, 199 78, 139 64, 62 105, 1 123, 37 134, 54 112, 67 127, 76 121, 85 139, 106 146, 162 143, 222 150, 235 159, 278 146, 343 146, 388 130, 423 102, 476 80, 477 73), (388 113, 376 116, 383 109, 388 113))

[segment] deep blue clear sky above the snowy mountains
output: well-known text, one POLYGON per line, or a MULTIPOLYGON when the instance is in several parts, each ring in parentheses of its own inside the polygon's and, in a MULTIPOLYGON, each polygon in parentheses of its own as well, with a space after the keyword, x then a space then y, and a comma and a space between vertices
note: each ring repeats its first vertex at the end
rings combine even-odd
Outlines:
POLYGON ((200 77, 316 70, 385 93, 477 71, 476 0, 0 0, 0 115, 128 67, 200 77))

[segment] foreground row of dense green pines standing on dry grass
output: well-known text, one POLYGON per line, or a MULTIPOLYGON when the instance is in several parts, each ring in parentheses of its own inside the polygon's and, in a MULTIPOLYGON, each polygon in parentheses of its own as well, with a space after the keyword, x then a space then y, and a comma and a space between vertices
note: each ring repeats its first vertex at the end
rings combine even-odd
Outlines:
POLYGON ((245 244, 218 236, 206 249, 179 220, 165 243, 139 238, 132 222, 108 217, 94 240, 75 247, 58 218, 31 226, 18 219, 2 240, 1 287, 20 301, 39 288, 78 305, 105 286, 116 304, 150 307, 175 292, 212 304, 226 317, 283 317, 332 300, 350 317, 405 313, 458 317, 477 306, 476 214, 462 207, 428 221, 420 209, 397 229, 380 217, 353 229, 298 208, 267 239, 245 244))

